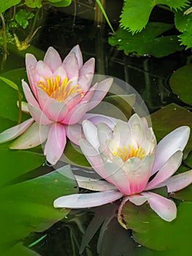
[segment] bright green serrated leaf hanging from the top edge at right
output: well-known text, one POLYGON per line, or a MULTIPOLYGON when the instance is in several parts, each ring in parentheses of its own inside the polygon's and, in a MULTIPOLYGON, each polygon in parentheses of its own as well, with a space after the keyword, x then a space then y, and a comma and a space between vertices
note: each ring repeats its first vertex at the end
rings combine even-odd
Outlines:
POLYGON ((189 2, 188 0, 125 0, 122 15, 120 15, 120 26, 132 33, 142 31, 155 5, 165 4, 170 9, 177 10, 188 6, 189 2))

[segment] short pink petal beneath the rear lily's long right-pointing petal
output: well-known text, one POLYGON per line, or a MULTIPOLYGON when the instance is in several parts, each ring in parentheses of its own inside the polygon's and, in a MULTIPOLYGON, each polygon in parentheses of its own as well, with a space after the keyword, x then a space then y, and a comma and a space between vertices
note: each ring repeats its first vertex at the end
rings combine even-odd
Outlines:
POLYGON ((85 113, 88 110, 88 103, 87 102, 80 102, 80 104, 76 105, 72 110, 70 110, 66 117, 64 118, 62 124, 77 124, 82 116, 85 115, 85 113))

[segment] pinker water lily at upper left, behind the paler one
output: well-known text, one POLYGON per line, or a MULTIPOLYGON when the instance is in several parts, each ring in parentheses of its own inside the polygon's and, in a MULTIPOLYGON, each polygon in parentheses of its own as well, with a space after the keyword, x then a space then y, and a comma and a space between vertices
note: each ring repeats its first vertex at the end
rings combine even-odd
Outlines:
POLYGON ((23 91, 32 118, 0 134, 0 143, 17 138, 10 148, 31 148, 45 143, 47 161, 55 164, 66 145, 66 136, 78 143, 78 122, 88 110, 101 102, 112 85, 112 78, 102 80, 91 87, 95 61, 82 63, 79 46, 72 48, 64 61, 50 47, 43 61, 26 54, 28 84, 22 80, 23 91))

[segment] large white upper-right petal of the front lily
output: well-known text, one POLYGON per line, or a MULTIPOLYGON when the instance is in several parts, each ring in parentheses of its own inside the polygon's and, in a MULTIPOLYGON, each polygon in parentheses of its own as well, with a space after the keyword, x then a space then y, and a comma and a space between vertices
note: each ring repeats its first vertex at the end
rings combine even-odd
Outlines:
POLYGON ((156 173, 162 165, 172 156, 176 151, 183 151, 190 134, 189 127, 179 127, 166 135, 156 148, 155 163, 151 175, 156 173))

